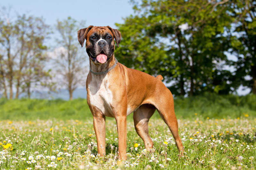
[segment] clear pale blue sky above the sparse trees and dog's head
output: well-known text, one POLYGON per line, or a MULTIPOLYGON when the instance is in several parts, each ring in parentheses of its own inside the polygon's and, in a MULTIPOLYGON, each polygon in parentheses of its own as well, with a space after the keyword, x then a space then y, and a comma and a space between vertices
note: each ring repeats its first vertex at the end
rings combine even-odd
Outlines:
MULTIPOLYGON (((45 18, 48 25, 56 24, 57 19, 68 16, 80 21, 86 20, 86 26, 111 26, 123 23, 122 18, 133 13, 129 0, 2 0, 1 6, 11 6, 12 12, 28 13, 45 18)), ((85 27, 86 27, 85 26, 85 27)))

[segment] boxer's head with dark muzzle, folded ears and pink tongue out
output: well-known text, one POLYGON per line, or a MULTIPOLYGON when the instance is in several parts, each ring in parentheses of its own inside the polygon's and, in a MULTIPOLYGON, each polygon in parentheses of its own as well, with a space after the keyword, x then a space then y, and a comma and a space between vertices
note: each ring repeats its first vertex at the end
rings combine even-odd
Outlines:
POLYGON ((110 26, 89 26, 78 31, 78 41, 83 47, 86 40, 86 52, 95 64, 106 63, 113 56, 115 41, 117 47, 121 41, 121 33, 110 26))

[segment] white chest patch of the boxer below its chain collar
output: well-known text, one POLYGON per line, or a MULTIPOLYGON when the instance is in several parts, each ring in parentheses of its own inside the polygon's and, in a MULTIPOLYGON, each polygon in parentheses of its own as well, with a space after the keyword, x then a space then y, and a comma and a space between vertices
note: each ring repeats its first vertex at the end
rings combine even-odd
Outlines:
POLYGON ((97 107, 103 115, 113 117, 111 111, 113 95, 109 89, 108 75, 92 78, 88 89, 90 104, 97 107))

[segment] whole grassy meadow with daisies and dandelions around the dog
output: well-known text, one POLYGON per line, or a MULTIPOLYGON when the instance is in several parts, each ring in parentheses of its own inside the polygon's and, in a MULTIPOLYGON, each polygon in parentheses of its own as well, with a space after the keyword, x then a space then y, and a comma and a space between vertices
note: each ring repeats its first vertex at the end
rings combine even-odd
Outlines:
POLYGON ((127 161, 117 165, 117 130, 106 120, 106 156, 97 156, 86 100, 0 100, 1 169, 255 169, 255 96, 176 98, 185 154, 178 156, 167 125, 149 121, 151 152, 127 121, 127 161))

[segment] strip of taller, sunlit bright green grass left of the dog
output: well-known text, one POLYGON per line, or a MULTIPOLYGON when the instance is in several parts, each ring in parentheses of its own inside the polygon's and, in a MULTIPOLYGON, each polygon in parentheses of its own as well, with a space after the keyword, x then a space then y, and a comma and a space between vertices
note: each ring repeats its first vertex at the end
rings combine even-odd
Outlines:
POLYGON ((92 114, 86 100, 0 100, 1 120, 36 120, 56 118, 85 120, 92 114))

